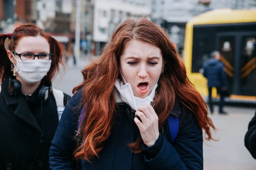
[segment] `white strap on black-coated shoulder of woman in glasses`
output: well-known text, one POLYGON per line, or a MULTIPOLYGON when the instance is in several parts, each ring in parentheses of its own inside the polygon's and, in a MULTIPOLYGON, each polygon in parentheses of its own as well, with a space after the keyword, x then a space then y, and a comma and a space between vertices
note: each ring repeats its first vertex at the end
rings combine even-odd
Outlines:
POLYGON ((52 89, 52 93, 53 93, 53 96, 55 98, 55 101, 56 101, 56 105, 57 105, 57 111, 58 111, 58 119, 60 120, 61 119, 61 115, 64 111, 64 94, 62 91, 59 91, 55 88, 52 89))

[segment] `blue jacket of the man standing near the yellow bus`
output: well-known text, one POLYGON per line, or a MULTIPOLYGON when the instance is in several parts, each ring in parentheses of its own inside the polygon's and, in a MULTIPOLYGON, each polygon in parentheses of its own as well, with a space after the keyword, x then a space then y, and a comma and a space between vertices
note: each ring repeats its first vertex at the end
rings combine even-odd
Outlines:
POLYGON ((224 65, 220 60, 210 59, 204 65, 204 77, 208 80, 208 87, 227 87, 224 65))

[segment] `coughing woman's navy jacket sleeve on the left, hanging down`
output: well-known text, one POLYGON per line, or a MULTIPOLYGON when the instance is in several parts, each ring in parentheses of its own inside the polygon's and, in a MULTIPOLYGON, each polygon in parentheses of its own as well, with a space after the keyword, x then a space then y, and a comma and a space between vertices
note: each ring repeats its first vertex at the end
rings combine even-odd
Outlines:
POLYGON ((67 103, 58 124, 52 146, 49 150, 49 164, 51 170, 74 170, 76 161, 73 161, 74 131, 81 109, 81 92, 77 92, 67 103))

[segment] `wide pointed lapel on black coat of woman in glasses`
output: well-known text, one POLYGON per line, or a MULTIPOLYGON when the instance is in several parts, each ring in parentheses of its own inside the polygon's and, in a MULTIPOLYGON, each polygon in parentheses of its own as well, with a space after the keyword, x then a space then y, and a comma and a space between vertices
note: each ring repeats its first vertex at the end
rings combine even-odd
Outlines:
POLYGON ((20 119, 22 119, 24 122, 28 123, 29 125, 31 125, 32 127, 34 127, 35 129, 42 133, 42 130, 38 125, 38 122, 36 121, 35 117, 29 110, 26 101, 21 100, 19 102, 19 105, 17 106, 17 109, 15 110, 14 114, 20 119))

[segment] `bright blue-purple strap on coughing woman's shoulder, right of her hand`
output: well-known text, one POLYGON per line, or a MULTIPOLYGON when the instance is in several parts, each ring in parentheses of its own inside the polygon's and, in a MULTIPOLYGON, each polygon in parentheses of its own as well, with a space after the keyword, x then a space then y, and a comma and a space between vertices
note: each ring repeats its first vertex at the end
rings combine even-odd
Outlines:
POLYGON ((168 126, 171 136, 171 142, 173 143, 178 135, 179 131, 179 118, 175 116, 168 117, 168 126))

